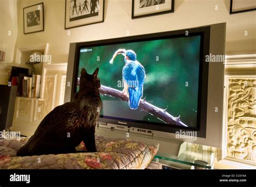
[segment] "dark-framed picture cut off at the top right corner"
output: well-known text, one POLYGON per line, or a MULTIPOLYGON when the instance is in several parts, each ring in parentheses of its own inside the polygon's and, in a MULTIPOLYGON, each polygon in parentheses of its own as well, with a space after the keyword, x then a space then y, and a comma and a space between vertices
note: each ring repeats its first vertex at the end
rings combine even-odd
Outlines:
POLYGON ((230 14, 256 10, 255 0, 230 0, 230 14))

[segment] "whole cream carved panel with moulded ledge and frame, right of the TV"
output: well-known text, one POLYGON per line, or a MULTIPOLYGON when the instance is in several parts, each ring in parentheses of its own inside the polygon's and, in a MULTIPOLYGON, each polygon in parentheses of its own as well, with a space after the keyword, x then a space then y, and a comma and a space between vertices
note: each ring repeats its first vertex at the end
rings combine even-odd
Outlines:
POLYGON ((256 54, 226 55, 223 143, 218 169, 256 166, 256 54))

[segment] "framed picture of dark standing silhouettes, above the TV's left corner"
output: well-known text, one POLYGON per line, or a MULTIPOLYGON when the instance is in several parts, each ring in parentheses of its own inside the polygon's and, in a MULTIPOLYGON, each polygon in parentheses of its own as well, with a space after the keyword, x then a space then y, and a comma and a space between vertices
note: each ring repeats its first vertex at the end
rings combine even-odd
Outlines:
POLYGON ((66 0, 65 29, 104 21, 104 0, 66 0))

